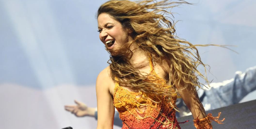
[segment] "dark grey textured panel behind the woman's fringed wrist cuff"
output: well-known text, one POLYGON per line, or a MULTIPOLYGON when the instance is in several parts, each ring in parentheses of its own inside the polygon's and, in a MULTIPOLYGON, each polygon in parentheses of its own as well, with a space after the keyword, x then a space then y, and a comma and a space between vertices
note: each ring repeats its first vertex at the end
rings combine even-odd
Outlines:
MULTIPOLYGON (((218 116, 218 112, 221 112, 219 120, 225 118, 224 124, 217 124, 212 122, 213 128, 221 129, 254 129, 256 128, 256 100, 230 105, 227 107, 221 107, 206 113, 212 113, 212 116, 218 116)), ((190 120, 184 124, 179 124, 182 129, 195 128, 193 123, 193 116, 184 116, 178 118, 178 122, 190 120)))

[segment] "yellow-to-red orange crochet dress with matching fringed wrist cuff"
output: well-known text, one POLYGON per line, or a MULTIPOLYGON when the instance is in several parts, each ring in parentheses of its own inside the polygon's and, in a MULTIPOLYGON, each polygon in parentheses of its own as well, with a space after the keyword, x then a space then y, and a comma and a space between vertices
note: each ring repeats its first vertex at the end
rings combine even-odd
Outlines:
MULTIPOLYGON (((160 78, 154 71, 151 56, 149 56, 149 62, 151 67, 150 74, 160 78)), ((166 81, 161 78, 158 80, 148 78, 146 81, 154 81, 155 83, 161 84, 161 86, 166 86, 166 81)), ((166 88, 175 90, 171 86, 166 88)), ((171 101, 168 101, 165 95, 156 96, 143 92, 132 92, 119 86, 118 83, 115 83, 113 95, 114 106, 123 121, 122 129, 180 129, 179 122, 175 116, 175 109, 173 108, 176 107, 176 99, 177 94, 173 94, 171 101)), ((203 119, 194 120, 194 125, 198 129, 210 129, 212 128, 211 120, 220 123, 218 118, 219 116, 213 117, 211 114, 208 114, 203 119)))

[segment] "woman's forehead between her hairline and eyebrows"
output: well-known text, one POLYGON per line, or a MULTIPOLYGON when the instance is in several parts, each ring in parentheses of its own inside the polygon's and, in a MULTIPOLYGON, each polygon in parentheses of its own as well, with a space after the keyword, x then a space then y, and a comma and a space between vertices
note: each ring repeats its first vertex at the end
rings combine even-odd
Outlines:
POLYGON ((116 22, 109 14, 102 13, 98 16, 98 27, 104 27, 106 23, 115 24, 116 22))

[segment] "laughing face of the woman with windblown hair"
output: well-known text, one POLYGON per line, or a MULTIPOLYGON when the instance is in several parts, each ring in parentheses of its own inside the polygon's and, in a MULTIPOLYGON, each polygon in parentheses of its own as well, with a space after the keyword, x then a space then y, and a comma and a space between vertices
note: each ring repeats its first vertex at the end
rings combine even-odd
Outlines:
POLYGON ((123 28, 122 24, 113 19, 109 14, 102 13, 98 16, 98 29, 100 40, 110 50, 111 55, 117 55, 117 48, 131 41, 130 31, 123 28), (115 51, 111 51, 113 49, 115 51))

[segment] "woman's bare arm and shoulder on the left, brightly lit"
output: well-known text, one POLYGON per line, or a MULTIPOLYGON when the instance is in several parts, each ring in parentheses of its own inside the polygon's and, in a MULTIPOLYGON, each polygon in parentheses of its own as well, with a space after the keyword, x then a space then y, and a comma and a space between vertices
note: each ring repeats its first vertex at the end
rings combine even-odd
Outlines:
POLYGON ((113 129, 115 107, 109 91, 112 79, 109 77, 108 68, 105 68, 97 77, 96 95, 98 108, 97 129, 113 129))

